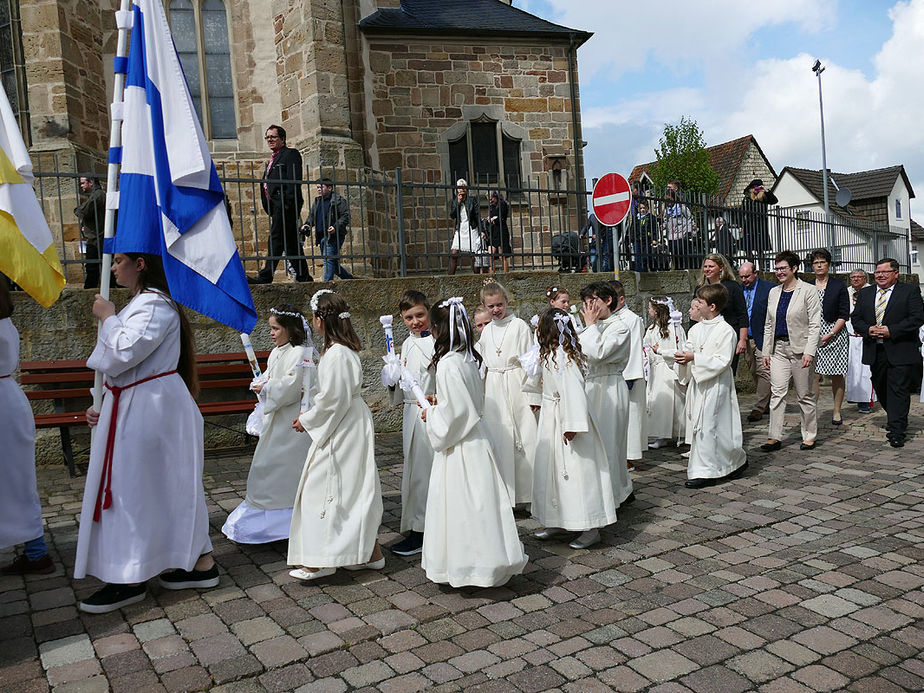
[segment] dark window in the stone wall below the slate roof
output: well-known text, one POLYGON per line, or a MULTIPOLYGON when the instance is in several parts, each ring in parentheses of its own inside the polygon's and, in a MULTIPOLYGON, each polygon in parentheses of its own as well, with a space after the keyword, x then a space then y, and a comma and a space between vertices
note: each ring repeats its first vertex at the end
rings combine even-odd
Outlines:
POLYGON ((497 121, 469 122, 465 134, 449 143, 449 172, 453 181, 519 188, 520 140, 507 135, 497 121))

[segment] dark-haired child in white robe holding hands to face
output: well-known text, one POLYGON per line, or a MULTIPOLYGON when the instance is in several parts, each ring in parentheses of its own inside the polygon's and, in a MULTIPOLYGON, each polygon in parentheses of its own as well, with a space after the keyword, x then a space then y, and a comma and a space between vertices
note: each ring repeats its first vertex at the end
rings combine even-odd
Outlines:
POLYGON ((625 304, 610 282, 594 282, 581 289, 586 327, 580 334, 581 350, 587 358, 587 401, 600 423, 610 481, 617 506, 631 502, 632 479, 626 468, 626 436, 629 428, 629 390, 623 371, 629 362, 631 333, 615 313, 625 304))

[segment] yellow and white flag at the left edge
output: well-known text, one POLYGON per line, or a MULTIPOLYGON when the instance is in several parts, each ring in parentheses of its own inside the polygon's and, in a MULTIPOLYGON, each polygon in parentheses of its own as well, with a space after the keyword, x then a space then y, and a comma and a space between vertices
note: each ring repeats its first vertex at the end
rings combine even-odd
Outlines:
POLYGON ((32 189, 32 160, 0 87, 0 272, 46 308, 64 288, 54 239, 32 189))

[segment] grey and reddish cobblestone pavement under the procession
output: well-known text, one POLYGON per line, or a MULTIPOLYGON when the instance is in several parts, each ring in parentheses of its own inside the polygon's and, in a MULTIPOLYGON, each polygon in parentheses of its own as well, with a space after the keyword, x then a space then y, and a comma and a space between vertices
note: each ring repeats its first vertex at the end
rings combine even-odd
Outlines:
MULTIPOLYGON (((922 414, 915 404, 912 428, 922 414)), ((798 450, 792 407, 779 453, 756 450, 766 418, 746 424, 745 477, 701 491, 683 487, 676 450, 648 453, 636 502, 589 551, 541 544, 519 517, 530 562, 496 589, 438 586, 419 556, 390 554, 381 572, 299 584, 284 543, 221 535, 250 458, 213 456, 220 586, 151 581, 145 601, 102 616, 76 609, 98 583, 70 578, 83 480, 43 468, 64 569, 0 579, 0 689, 920 691, 924 436, 894 450, 881 412, 850 405, 840 428, 829 417, 823 399, 812 453, 798 450)), ((398 536, 400 451, 399 437, 377 443, 386 544, 398 536)))

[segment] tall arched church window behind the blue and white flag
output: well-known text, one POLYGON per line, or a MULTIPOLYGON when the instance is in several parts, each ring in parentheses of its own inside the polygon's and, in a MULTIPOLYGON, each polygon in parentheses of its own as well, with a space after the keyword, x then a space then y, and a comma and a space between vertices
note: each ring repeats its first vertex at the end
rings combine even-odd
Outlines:
POLYGON ((173 42, 206 138, 235 139, 237 117, 224 2, 170 0, 168 10, 173 42))

